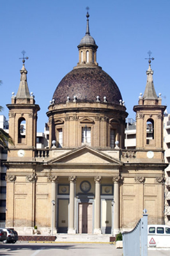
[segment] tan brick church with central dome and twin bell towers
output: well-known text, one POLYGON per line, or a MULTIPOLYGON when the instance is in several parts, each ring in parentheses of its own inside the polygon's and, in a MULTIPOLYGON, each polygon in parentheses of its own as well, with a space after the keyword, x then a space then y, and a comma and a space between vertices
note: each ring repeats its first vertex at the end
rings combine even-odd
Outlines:
POLYGON ((98 66, 89 33, 79 63, 58 84, 47 116, 49 147, 36 148, 40 107, 27 86, 23 58, 20 84, 9 109, 6 227, 19 234, 118 234, 135 227, 143 209, 148 223, 164 223, 162 106, 151 62, 136 113, 136 148, 125 150, 126 108, 114 80, 98 66))

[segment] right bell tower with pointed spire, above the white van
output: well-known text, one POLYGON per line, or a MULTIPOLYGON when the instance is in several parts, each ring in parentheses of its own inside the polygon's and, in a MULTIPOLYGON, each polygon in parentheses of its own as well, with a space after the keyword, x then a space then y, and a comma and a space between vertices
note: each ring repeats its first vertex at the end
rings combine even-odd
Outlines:
POLYGON ((166 106, 162 106, 161 94, 159 93, 157 97, 155 92, 151 60, 154 59, 149 58, 148 61, 146 88, 143 96, 142 93, 139 96, 139 104, 134 106, 134 111, 136 113, 136 149, 146 150, 145 156, 147 154, 148 158, 155 158, 155 154, 158 157, 158 151, 163 152, 163 118, 166 106))

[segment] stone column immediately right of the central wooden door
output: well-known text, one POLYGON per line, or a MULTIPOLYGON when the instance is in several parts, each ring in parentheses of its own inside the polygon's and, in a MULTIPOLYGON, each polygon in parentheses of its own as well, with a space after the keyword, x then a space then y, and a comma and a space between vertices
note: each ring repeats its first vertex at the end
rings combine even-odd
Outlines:
POLYGON ((94 234, 102 234, 100 228, 100 182, 101 177, 95 177, 95 229, 94 234))

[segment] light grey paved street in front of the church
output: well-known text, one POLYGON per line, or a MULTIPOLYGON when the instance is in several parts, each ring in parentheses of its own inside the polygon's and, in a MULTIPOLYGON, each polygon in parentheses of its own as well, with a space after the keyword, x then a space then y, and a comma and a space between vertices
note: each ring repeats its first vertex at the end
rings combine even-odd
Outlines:
MULTIPOLYGON (((148 250, 148 256, 170 254, 170 250, 148 250)), ((1 256, 122 256, 123 250, 116 249, 114 244, 58 244, 58 243, 0 243, 1 256), (69 253, 69 254, 68 254, 69 253)), ((138 255, 129 255, 138 256, 138 255)))

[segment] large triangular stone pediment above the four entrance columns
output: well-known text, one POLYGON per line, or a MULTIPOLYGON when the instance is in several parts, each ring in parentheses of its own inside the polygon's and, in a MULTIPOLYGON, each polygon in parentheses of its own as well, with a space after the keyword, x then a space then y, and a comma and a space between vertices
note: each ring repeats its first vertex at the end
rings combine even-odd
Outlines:
POLYGON ((100 150, 83 145, 73 149, 70 152, 56 157, 48 162, 48 164, 57 163, 74 163, 74 164, 114 164, 122 165, 123 163, 114 157, 111 157, 100 150))

